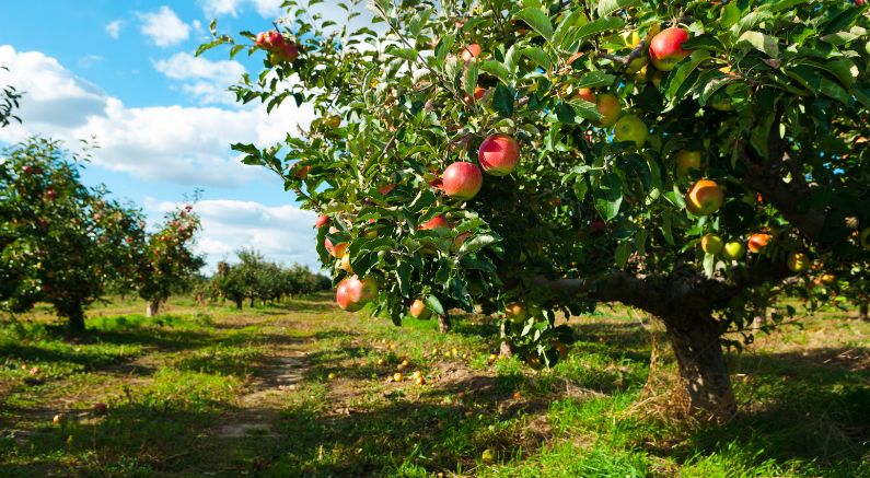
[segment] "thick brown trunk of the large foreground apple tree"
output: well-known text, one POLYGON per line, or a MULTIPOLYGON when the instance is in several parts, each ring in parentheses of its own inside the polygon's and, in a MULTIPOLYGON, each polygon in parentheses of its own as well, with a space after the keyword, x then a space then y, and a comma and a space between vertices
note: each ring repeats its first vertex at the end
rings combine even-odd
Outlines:
POLYGON ((732 418, 736 400, 716 320, 709 315, 664 317, 664 325, 688 394, 689 411, 714 421, 732 418))

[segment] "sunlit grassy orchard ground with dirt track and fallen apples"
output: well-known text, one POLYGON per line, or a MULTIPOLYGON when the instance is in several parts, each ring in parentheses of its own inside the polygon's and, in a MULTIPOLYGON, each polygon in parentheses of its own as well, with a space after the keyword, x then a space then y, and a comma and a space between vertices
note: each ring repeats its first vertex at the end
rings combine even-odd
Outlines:
POLYGON ((329 294, 143 311, 93 307, 80 336, 47 310, 0 322, 0 476, 870 476, 870 324, 834 308, 729 353, 724 425, 664 419, 649 322, 620 307, 571 318, 541 372, 490 364, 486 317, 396 328, 329 294))

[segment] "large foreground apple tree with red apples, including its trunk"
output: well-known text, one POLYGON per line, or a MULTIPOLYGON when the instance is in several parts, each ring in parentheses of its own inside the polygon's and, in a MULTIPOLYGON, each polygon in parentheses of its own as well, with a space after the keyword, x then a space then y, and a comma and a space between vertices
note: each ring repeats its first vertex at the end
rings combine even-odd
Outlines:
POLYGON ((316 112, 281 144, 233 148, 323 214, 349 310, 495 314, 552 364, 557 312, 622 302, 664 324, 692 408, 727 419, 722 346, 868 263, 867 7, 375 0, 351 30, 285 5, 294 58, 213 23, 200 53, 265 57, 239 102, 316 112))

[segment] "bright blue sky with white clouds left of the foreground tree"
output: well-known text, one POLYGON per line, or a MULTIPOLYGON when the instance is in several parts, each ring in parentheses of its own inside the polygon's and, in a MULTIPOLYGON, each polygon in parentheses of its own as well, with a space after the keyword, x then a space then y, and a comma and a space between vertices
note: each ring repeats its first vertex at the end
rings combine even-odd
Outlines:
MULTIPOLYGON (((275 260, 318 267, 314 213, 301 211, 279 178, 244 166, 232 142, 263 147, 312 119, 287 105, 266 115, 236 105, 225 90, 262 57, 193 57, 218 19, 221 32, 262 31, 280 16, 281 0, 4 2, 0 15, 0 84, 25 92, 23 124, 0 129, 0 143, 31 135, 101 148, 85 183, 104 183, 140 205, 150 221, 195 188, 204 219, 199 250, 217 260, 255 247, 275 260)), ((320 7, 336 16, 336 1, 320 7)), ((340 19, 339 19, 340 21, 340 19)))

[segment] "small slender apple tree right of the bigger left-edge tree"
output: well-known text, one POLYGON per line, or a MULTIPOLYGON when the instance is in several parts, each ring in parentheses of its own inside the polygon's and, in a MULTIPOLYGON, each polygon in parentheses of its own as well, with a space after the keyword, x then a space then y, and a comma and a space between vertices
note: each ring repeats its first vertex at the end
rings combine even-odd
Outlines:
POLYGON ((185 205, 167 212, 159 230, 146 240, 137 272, 139 296, 148 303, 149 317, 160 312, 170 295, 188 291, 194 276, 206 264, 193 250, 200 230, 199 217, 193 209, 185 205))

